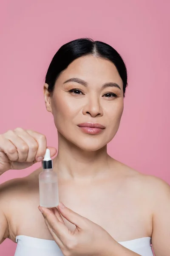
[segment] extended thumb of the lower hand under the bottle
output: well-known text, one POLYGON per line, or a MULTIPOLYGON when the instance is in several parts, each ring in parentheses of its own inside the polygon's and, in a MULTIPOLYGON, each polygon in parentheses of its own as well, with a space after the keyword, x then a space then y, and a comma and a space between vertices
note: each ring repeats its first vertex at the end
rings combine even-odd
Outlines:
POLYGON ((78 213, 72 211, 68 207, 65 207, 61 202, 58 205, 59 212, 61 215, 70 221, 72 224, 76 225, 76 227, 83 228, 87 225, 87 218, 79 215, 78 213))

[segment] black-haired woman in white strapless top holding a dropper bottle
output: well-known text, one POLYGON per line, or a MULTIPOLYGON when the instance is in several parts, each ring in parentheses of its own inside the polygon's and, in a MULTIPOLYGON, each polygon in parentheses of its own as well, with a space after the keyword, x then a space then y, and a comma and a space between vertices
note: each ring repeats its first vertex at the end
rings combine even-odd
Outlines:
MULTIPOLYGON (((170 187, 107 154, 123 112, 127 71, 115 49, 77 39, 48 68, 45 105, 58 131, 58 209, 39 207, 37 169, 0 187, 0 240, 15 256, 169 256, 170 187), (42 212, 42 214, 41 214, 42 212)), ((17 128, 0 135, 0 173, 42 160, 45 136, 17 128)), ((57 150, 48 147, 53 157, 57 150)))

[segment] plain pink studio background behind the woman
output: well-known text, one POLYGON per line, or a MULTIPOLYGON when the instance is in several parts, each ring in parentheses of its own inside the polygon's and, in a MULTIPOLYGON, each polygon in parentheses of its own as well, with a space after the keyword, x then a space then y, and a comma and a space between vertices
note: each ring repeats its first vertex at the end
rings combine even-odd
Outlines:
MULTIPOLYGON (((0 133, 33 129, 46 135, 48 145, 57 145, 43 99, 45 73, 62 44, 91 37, 111 44, 128 70, 125 110, 109 154, 170 183, 170 1, 1 0, 0 5, 0 133)), ((0 183, 38 166, 10 170, 0 183)), ((0 255, 14 255, 15 247, 6 239, 0 255)))

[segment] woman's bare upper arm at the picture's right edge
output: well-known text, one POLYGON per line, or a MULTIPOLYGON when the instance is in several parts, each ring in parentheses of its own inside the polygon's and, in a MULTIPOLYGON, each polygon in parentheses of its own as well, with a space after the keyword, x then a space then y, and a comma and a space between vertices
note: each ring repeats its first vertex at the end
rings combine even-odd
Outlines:
POLYGON ((155 256, 170 256, 170 186, 158 178, 153 186, 153 250, 155 256))

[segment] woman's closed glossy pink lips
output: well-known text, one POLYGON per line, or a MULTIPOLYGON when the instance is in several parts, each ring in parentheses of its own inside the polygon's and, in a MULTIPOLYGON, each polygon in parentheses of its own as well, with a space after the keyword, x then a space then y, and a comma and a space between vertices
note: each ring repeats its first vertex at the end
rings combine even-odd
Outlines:
POLYGON ((79 128, 86 134, 100 134, 105 126, 98 123, 82 123, 78 125, 79 128))

